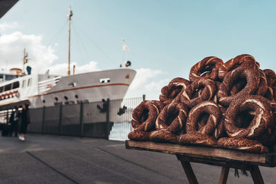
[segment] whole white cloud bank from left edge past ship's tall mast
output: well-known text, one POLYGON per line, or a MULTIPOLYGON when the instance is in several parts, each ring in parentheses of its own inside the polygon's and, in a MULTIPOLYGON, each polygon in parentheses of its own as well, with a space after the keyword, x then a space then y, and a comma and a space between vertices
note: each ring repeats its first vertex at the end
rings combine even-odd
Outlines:
MULTIPOLYGON (((58 43, 55 45, 58 45, 58 43)), ((41 36, 23 34, 21 32, 1 35, 0 56, 2 65, 0 69, 8 72, 10 68, 22 68, 24 48, 28 52, 27 65, 32 67, 33 73, 45 73, 47 70, 50 70, 50 74, 67 74, 68 64, 59 63, 53 65, 58 57, 55 55, 55 50, 51 46, 46 47, 46 45, 42 44, 41 36)), ((79 66, 77 63, 71 63, 71 73, 73 64, 76 65, 76 74, 99 70, 96 61, 90 61, 88 64, 79 66)))

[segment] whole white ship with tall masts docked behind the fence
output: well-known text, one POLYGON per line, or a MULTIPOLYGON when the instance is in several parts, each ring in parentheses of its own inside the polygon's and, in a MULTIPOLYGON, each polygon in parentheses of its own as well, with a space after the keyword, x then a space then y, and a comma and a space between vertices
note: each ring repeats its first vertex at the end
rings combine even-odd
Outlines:
MULTIPOLYGON (((23 103, 29 103, 30 108, 41 108, 102 99, 124 99, 135 77, 135 70, 119 68, 70 75, 70 9, 68 17, 68 75, 25 74, 24 69, 22 71, 17 68, 11 69, 13 74, 0 74, 0 110, 7 110, 23 103)), ((28 54, 24 50, 23 65, 27 63, 27 57, 28 54)))

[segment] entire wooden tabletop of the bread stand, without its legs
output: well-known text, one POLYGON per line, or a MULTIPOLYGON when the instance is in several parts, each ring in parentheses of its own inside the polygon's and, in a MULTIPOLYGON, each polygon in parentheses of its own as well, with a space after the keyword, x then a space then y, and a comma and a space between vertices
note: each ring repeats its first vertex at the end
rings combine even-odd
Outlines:
POLYGON ((245 167, 245 170, 247 165, 276 166, 276 153, 255 154, 218 147, 177 145, 149 141, 126 141, 126 148, 176 154, 179 161, 192 161, 209 165, 227 165, 228 167, 237 167, 239 165, 239 167, 245 167))

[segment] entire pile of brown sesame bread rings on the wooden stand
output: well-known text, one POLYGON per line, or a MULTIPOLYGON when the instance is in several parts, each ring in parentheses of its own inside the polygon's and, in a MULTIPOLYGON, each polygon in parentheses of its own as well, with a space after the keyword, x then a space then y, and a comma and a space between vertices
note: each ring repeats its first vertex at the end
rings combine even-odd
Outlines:
POLYGON ((132 112, 130 140, 266 153, 276 141, 276 74, 242 54, 206 57, 132 112))

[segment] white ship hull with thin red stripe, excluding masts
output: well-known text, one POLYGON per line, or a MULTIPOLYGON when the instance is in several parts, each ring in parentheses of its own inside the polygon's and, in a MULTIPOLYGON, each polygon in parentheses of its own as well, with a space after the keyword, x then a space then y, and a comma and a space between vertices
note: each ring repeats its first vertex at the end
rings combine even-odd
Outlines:
MULTIPOLYGON (((60 76, 47 79, 46 76, 32 77, 32 86, 30 88, 17 89, 17 95, 10 99, 0 101, 0 107, 13 105, 14 102, 19 104, 29 101, 30 108, 49 107, 54 105, 102 101, 102 99, 123 99, 130 83, 135 77, 135 70, 117 69, 103 70, 99 72, 88 72, 83 74, 75 74, 70 76, 60 76)), ((13 79, 19 81, 20 84, 27 76, 22 79, 13 79)), ((48 77, 49 78, 49 77, 48 77)), ((14 103, 15 105, 15 103, 14 103)))

